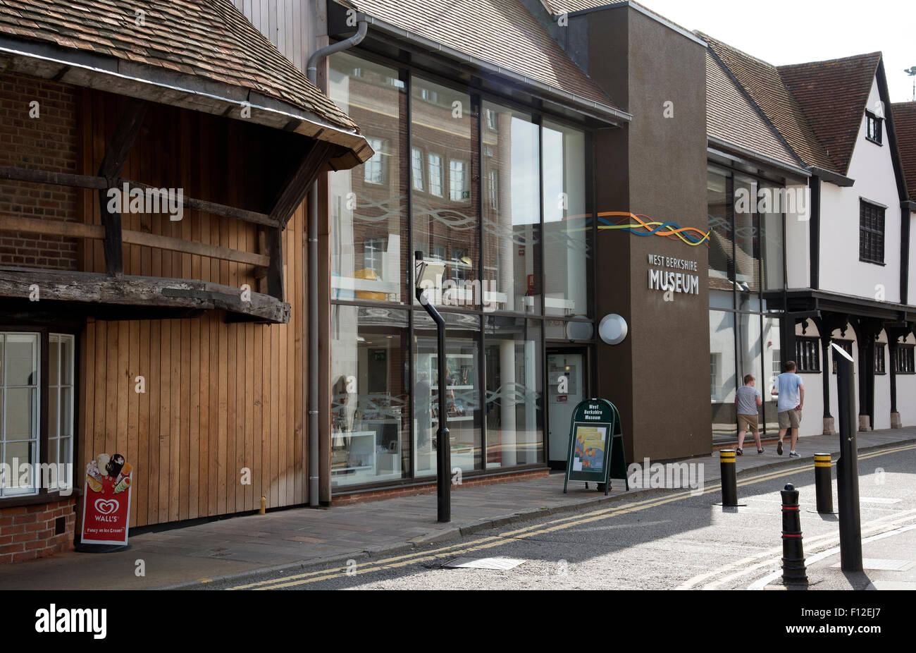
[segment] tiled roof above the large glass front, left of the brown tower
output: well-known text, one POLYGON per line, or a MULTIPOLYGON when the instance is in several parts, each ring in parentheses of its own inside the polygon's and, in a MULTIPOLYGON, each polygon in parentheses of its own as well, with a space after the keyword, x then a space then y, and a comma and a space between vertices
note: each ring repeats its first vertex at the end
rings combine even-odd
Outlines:
POLYGON ((519 0, 338 0, 507 71, 618 108, 519 0))

